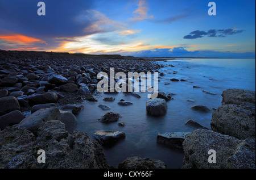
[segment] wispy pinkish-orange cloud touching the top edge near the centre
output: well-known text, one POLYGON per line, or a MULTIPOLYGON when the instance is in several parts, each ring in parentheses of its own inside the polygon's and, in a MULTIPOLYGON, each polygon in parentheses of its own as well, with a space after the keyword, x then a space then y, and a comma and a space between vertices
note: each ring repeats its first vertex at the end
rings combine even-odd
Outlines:
POLYGON ((138 8, 133 11, 134 18, 132 20, 144 20, 144 19, 152 19, 153 15, 148 15, 148 7, 146 5, 146 0, 139 0, 138 8))

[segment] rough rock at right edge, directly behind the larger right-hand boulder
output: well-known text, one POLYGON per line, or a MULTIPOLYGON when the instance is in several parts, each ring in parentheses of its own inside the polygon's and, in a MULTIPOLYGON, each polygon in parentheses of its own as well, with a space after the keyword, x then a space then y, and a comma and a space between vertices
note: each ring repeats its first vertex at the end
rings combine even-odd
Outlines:
POLYGON ((255 91, 228 89, 222 92, 222 104, 240 105, 243 102, 255 104, 255 91))

